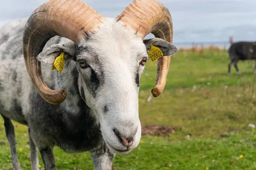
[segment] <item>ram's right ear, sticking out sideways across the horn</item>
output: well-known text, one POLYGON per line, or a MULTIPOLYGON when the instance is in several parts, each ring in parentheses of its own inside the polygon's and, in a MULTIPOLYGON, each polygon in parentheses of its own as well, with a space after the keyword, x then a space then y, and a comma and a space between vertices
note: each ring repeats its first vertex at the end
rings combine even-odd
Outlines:
POLYGON ((146 46, 147 51, 151 48, 151 45, 154 45, 157 48, 160 48, 164 56, 170 56, 172 54, 175 54, 179 50, 172 43, 160 38, 145 39, 143 40, 143 42, 146 46))

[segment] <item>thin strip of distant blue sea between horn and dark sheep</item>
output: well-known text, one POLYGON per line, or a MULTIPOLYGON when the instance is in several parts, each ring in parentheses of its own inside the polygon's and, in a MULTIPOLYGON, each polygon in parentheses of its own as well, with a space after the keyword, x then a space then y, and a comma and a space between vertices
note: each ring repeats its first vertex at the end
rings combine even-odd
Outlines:
POLYGON ((221 49, 228 49, 230 47, 230 43, 228 41, 215 41, 215 42, 173 42, 178 48, 191 48, 192 44, 201 47, 203 44, 204 46, 214 45, 218 46, 221 49))

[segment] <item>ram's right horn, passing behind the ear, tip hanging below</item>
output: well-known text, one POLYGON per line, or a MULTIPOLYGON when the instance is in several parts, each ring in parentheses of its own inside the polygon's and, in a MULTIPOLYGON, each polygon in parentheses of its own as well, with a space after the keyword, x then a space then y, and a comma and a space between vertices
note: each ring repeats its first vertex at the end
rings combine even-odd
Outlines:
MULTIPOLYGON (((149 33, 172 43, 172 17, 169 10, 156 0, 134 0, 122 13, 116 17, 117 22, 130 28, 142 39, 149 33)), ((171 56, 158 59, 157 80, 151 93, 159 96, 165 85, 171 56)))

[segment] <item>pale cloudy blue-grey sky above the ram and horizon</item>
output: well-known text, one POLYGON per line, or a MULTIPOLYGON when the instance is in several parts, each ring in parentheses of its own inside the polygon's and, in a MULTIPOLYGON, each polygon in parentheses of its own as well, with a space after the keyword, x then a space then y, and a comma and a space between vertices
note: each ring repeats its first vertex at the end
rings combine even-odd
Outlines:
MULTIPOLYGON (((133 0, 82 0, 105 17, 115 18, 133 0)), ((256 0, 158 0, 169 8, 173 42, 256 40, 256 0)), ((9 20, 29 17, 47 0, 3 0, 0 27, 9 20)), ((151 37, 151 36, 149 36, 151 37)))

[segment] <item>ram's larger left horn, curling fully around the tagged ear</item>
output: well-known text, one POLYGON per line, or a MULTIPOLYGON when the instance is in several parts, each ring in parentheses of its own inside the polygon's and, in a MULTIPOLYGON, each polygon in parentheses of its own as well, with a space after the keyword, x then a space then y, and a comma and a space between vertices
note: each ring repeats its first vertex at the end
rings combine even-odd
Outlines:
POLYGON ((46 42, 58 35, 78 44, 104 20, 81 0, 50 0, 31 14, 23 32, 23 57, 29 77, 44 100, 57 105, 67 96, 64 90, 51 90, 42 77, 41 63, 36 57, 46 42))

